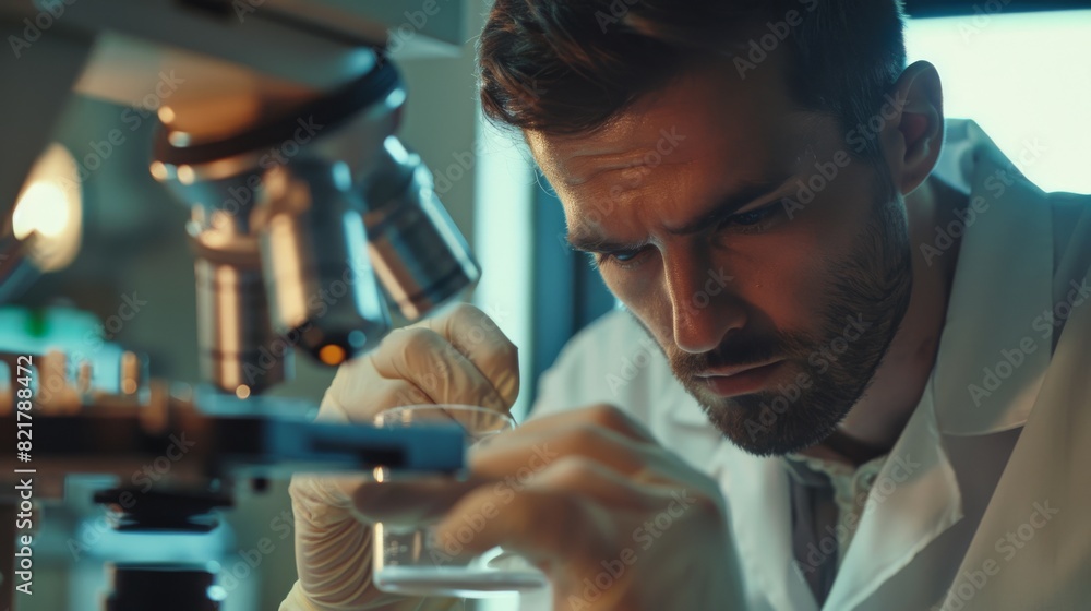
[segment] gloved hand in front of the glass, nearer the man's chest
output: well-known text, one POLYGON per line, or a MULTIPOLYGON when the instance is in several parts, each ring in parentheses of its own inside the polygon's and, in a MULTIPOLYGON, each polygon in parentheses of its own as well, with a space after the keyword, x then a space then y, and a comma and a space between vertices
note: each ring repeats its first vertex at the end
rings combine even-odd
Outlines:
POLYGON ((746 608, 718 482, 620 409, 531 419, 476 446, 470 467, 468 480, 364 487, 356 502, 384 518, 446 498, 440 549, 521 554, 549 576, 554 611, 746 608))

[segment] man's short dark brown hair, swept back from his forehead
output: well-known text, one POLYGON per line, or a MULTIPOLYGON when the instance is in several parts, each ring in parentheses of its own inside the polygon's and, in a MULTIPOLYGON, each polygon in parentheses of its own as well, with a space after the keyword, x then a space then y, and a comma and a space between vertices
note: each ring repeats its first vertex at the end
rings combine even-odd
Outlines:
POLYGON ((796 101, 844 129, 866 124, 906 68, 898 0, 495 0, 478 45, 481 101, 501 125, 590 132, 717 52, 743 75, 781 22, 795 24, 784 44, 796 101), (755 23, 763 33, 741 40, 755 23))

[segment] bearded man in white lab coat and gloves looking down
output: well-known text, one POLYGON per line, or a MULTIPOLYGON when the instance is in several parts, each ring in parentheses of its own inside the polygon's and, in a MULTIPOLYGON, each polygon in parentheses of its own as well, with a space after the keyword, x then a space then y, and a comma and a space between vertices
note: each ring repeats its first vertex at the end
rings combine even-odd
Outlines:
MULTIPOLYGON (((558 610, 1086 604, 1091 208, 945 134, 901 28, 894 0, 497 0, 484 109, 627 312, 468 484, 293 482, 284 608, 442 608, 369 587, 353 504, 449 501, 442 539, 542 447, 469 547, 536 562, 558 610)), ((323 416, 505 409, 515 364, 460 309, 344 368, 323 416)))

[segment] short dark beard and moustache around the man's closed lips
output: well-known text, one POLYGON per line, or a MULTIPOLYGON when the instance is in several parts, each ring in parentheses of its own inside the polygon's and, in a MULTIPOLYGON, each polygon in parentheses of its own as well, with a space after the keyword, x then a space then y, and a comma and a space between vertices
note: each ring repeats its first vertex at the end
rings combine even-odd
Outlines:
POLYGON ((742 450, 771 456, 815 445, 863 396, 894 340, 912 292, 910 252, 900 200, 878 199, 849 255, 828 266, 828 301, 815 331, 759 337, 740 330, 716 350, 698 355, 672 344, 664 349, 671 371, 742 450), (778 358, 783 359, 778 379, 789 381, 756 393, 723 397, 698 376, 778 358))

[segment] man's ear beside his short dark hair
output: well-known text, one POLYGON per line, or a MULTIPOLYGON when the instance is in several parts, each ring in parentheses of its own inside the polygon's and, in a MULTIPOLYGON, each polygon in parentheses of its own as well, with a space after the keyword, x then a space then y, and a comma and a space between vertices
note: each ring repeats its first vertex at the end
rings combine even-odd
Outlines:
POLYGON ((890 177, 907 195, 932 173, 943 148, 944 95, 936 67, 919 61, 907 68, 883 111, 887 120, 883 147, 890 177))

